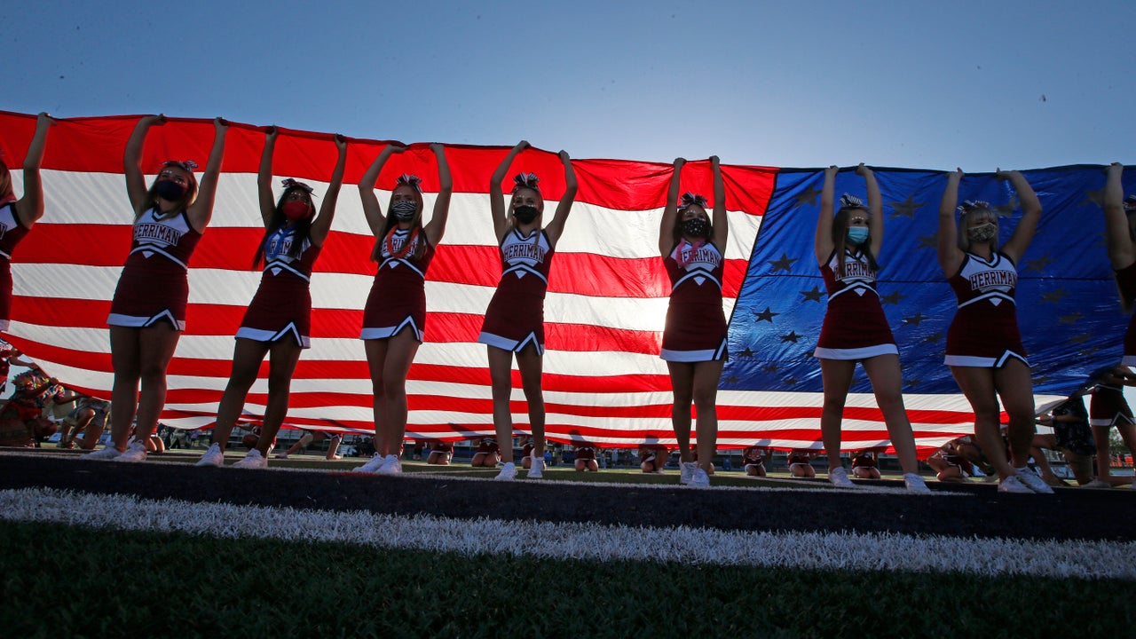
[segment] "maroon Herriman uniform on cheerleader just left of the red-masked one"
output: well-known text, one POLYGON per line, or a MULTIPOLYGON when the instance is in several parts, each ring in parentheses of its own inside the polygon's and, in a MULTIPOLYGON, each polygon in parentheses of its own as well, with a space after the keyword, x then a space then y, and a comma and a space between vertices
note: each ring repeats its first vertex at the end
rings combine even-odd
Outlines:
POLYGON ((200 239, 184 210, 159 217, 156 207, 140 215, 107 324, 143 329, 167 321, 184 331, 190 297, 186 271, 200 239))

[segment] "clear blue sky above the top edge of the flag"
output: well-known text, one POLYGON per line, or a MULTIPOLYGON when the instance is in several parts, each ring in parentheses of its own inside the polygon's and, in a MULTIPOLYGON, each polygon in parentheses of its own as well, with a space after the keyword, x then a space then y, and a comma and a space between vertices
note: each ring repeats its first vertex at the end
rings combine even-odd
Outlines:
POLYGON ((8 2, 0 108, 576 158, 1136 164, 1136 2, 8 2))

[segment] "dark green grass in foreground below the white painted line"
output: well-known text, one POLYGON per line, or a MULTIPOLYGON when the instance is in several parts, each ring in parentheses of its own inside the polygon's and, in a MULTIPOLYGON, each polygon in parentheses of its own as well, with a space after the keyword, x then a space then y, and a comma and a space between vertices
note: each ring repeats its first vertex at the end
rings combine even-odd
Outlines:
POLYGON ((3 523, 6 637, 1122 637, 1131 584, 548 561, 3 523))

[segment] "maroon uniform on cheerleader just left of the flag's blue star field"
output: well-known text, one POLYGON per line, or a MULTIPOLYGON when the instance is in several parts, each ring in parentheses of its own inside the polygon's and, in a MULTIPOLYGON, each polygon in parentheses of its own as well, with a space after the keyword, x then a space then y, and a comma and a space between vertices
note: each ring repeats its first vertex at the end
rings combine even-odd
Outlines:
POLYGON ((662 332, 667 362, 726 359, 726 314, 721 310, 722 257, 711 242, 678 241, 662 264, 670 277, 670 305, 662 332))

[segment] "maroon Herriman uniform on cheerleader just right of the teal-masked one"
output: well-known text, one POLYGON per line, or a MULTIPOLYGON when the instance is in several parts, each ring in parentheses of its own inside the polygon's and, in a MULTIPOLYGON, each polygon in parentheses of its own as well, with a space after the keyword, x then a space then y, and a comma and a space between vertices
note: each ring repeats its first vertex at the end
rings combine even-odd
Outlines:
POLYGON ((946 333, 947 366, 1001 368, 1011 358, 1026 360, 1013 301, 1018 271, 1003 252, 991 260, 966 254, 959 272, 949 280, 959 309, 946 333))

